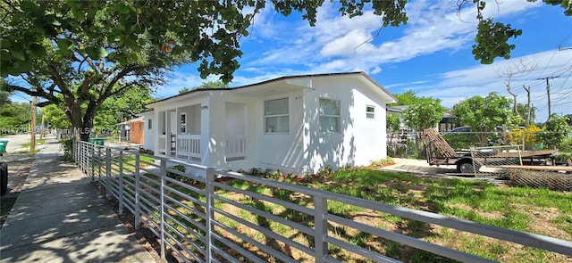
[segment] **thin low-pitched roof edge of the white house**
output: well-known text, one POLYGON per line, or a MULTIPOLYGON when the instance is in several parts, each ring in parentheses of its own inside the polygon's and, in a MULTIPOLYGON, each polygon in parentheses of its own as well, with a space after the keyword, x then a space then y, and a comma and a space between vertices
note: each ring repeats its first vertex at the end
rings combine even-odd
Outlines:
MULTIPOLYGON (((322 73, 322 74, 285 76, 285 77, 281 77, 281 78, 273 78, 273 79, 265 80, 262 82, 254 83, 254 84, 248 84, 245 86, 236 86, 236 87, 231 87, 231 88, 198 88, 198 89, 193 89, 193 90, 190 90, 188 92, 182 93, 180 95, 174 95, 174 96, 171 96, 168 98, 164 98, 162 100, 158 100, 154 103, 149 103, 149 104, 147 104, 147 106, 148 107, 154 107, 155 105, 158 105, 159 103, 162 103, 164 101, 172 100, 174 98, 178 98, 181 96, 187 96, 187 95, 191 95, 191 94, 200 94, 200 93, 207 93, 207 92, 213 92, 213 91, 242 91, 242 90, 247 90, 249 88, 262 87, 262 86, 265 86, 265 88, 271 88, 273 83, 278 83, 280 81, 287 81, 287 80, 296 79, 296 78, 301 79, 301 78, 352 77, 352 76, 357 76, 357 77, 363 78, 362 80, 366 83, 366 85, 368 85, 370 87, 375 87, 375 88, 377 88, 378 92, 381 92, 381 94, 388 96, 389 102, 387 102, 387 103, 397 103, 397 98, 395 96, 391 95, 391 93, 387 89, 385 89, 385 87, 381 86, 379 83, 377 83, 377 81, 375 81, 373 78, 369 77, 369 75, 367 75, 365 72, 355 71, 355 72, 339 72, 339 73, 322 73)), ((284 90, 282 89, 281 91, 283 92, 284 90)), ((260 93, 257 93, 257 92, 252 93, 252 94, 260 95, 260 93)))

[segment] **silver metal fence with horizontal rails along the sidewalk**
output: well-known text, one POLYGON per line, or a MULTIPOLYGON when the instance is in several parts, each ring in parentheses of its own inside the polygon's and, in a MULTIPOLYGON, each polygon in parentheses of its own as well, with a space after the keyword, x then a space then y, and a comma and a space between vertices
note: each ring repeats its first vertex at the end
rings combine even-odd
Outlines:
POLYGON ((572 256, 572 242, 449 218, 301 185, 245 176, 124 149, 74 142, 78 167, 185 262, 400 262, 372 242, 396 242, 464 262, 492 262, 356 220, 393 215, 572 256), (195 175, 206 176, 195 176, 195 175), (260 187, 264 186, 264 187, 260 187), (262 189, 262 190, 261 190, 262 189), (345 209, 351 208, 352 212, 345 209))

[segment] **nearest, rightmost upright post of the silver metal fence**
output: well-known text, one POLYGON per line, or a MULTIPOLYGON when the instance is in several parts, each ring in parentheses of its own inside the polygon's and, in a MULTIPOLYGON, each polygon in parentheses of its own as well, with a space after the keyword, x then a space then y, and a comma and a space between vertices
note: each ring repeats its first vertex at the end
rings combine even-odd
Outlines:
POLYGON ((325 236, 328 234, 328 222, 324 219, 324 214, 328 212, 328 200, 317 193, 314 196, 314 247, 315 262, 325 262, 328 256, 328 244, 325 236))

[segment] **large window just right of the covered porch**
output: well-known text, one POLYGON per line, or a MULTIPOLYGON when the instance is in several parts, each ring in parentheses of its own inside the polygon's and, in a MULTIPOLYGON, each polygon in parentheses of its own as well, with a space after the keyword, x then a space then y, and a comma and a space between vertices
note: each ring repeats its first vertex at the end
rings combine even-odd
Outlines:
POLYGON ((288 98, 265 101, 265 132, 287 133, 290 130, 288 98))

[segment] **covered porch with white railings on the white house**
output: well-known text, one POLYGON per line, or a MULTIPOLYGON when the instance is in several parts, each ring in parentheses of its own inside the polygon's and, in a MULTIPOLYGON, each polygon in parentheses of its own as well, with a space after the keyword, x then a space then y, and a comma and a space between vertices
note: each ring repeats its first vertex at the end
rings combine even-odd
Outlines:
POLYGON ((156 154, 202 165, 246 160, 247 106, 223 105, 209 108, 210 103, 195 103, 156 111, 156 154))

